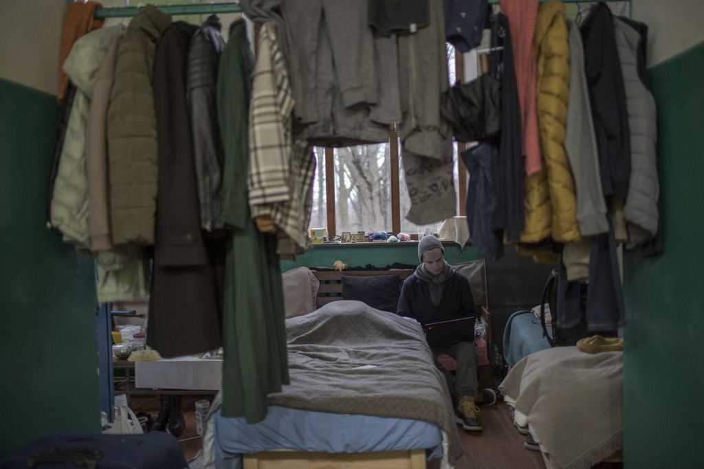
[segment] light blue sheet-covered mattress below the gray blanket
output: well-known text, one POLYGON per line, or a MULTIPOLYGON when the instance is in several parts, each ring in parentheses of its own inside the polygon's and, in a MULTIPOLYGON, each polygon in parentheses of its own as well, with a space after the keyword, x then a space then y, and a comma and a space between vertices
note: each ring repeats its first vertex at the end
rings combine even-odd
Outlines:
POLYGON ((426 458, 442 457, 442 432, 432 423, 403 418, 348 415, 270 406, 264 420, 215 418, 215 462, 241 468, 243 453, 297 449, 328 453, 403 451, 425 448, 426 458))

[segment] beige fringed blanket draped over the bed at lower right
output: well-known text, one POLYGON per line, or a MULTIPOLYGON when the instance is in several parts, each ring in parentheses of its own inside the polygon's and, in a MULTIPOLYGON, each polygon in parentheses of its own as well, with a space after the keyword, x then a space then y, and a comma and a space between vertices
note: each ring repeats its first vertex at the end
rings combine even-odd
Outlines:
POLYGON ((541 350, 499 389, 527 416, 548 468, 590 468, 622 449, 623 352, 541 350))

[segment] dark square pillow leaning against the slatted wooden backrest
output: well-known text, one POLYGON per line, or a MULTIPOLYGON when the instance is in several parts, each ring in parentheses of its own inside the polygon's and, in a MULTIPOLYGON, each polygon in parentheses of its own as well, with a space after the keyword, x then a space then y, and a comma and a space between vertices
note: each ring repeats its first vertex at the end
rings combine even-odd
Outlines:
POLYGON ((372 308, 395 313, 401 294, 400 283, 398 275, 342 276, 342 299, 357 300, 372 308))

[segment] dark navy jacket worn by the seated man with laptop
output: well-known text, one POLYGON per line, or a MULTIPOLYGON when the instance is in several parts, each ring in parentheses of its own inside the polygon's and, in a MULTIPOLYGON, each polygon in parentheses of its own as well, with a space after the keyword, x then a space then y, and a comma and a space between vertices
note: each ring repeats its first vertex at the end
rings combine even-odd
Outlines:
POLYGON ((396 314, 427 324, 451 319, 476 318, 477 309, 474 307, 470 283, 462 274, 453 272, 447 279, 438 306, 430 300, 427 284, 413 274, 403 281, 396 314))

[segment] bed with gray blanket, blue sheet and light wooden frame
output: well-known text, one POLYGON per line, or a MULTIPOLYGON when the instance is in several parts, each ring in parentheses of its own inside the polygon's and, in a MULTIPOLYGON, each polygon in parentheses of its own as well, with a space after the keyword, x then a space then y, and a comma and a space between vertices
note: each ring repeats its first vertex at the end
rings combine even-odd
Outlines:
POLYGON ((287 319, 291 385, 270 394, 255 425, 222 417, 216 397, 191 468, 425 468, 435 458, 452 468, 460 439, 422 328, 341 296, 342 276, 392 276, 400 291, 410 274, 313 274, 319 308, 287 319))

